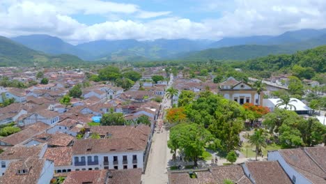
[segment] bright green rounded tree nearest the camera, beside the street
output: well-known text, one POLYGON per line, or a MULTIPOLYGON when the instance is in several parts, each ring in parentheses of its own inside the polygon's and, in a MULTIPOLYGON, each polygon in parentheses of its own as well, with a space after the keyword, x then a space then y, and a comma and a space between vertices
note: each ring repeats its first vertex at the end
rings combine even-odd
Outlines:
POLYGON ((214 140, 203 125, 195 123, 180 123, 171 128, 170 135, 168 146, 173 146, 169 148, 176 150, 175 146, 178 146, 178 149, 185 153, 186 158, 191 158, 194 161, 194 167, 198 166, 197 162, 199 157, 203 155, 203 151, 205 151, 205 145, 214 140))

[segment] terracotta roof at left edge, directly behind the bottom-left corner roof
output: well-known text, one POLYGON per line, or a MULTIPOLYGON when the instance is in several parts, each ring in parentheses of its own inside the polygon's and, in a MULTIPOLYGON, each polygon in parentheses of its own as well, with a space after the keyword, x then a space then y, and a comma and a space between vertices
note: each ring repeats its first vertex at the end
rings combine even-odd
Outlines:
POLYGON ((38 146, 13 146, 7 148, 6 151, 0 154, 0 160, 20 160, 36 156, 42 151, 44 144, 38 146))

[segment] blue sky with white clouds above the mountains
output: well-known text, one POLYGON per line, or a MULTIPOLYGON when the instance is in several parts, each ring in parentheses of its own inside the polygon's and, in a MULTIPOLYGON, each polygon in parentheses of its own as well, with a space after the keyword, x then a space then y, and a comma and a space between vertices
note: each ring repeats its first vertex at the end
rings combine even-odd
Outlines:
POLYGON ((154 40, 277 35, 326 27, 325 0, 0 0, 0 35, 154 40))

